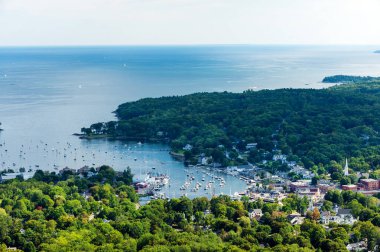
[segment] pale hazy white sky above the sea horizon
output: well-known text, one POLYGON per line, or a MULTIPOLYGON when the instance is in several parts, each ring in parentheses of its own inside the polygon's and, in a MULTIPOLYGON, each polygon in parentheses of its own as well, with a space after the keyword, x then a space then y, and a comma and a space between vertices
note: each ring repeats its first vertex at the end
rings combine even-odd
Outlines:
POLYGON ((0 0, 0 45, 377 44, 380 0, 0 0))

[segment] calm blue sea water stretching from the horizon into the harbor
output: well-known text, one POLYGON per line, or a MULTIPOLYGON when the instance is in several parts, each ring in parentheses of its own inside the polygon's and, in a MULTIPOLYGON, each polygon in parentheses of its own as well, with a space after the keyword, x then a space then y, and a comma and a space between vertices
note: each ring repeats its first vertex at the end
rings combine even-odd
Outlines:
MULTIPOLYGON (((156 167, 178 194, 187 173, 167 146, 79 140, 82 126, 114 119, 117 105, 200 91, 323 88, 334 74, 380 75, 374 47, 173 46, 0 48, 0 169, 156 167)), ((194 172, 197 179, 201 173, 194 172)), ((224 193, 244 183, 226 177, 224 193)), ((203 192, 202 192, 203 193, 203 192)), ((190 194, 190 193, 189 193, 190 194)))

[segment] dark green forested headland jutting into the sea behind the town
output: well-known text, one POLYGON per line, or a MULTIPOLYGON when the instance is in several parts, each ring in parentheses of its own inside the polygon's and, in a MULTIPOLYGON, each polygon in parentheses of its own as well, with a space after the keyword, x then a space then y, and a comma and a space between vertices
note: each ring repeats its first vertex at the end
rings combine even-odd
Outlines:
POLYGON ((193 163, 202 153, 222 165, 259 162, 277 150, 307 168, 342 164, 346 157, 357 159, 350 162, 355 170, 380 165, 378 82, 147 98, 120 105, 116 115, 117 122, 82 131, 89 137, 168 141, 193 163), (247 143, 257 148, 244 157, 247 143), (187 144, 193 148, 184 151, 187 144))

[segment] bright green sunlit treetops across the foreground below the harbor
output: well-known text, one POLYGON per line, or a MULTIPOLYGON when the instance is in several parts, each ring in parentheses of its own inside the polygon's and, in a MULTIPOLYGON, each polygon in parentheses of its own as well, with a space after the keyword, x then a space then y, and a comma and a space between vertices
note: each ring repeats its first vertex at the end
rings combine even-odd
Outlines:
POLYGON ((328 193, 325 210, 333 203, 348 206, 361 221, 326 229, 318 223, 316 209, 307 212, 303 224, 290 224, 287 214, 308 205, 306 198, 296 195, 282 205, 219 196, 154 200, 139 206, 132 187, 108 180, 111 169, 101 174, 89 180, 38 172, 28 181, 1 184, 0 250, 346 251, 347 243, 363 239, 369 249, 379 244, 380 214, 373 197, 328 193), (54 182, 44 182, 51 178, 54 182), (262 209, 260 221, 248 218, 252 209, 262 209))

